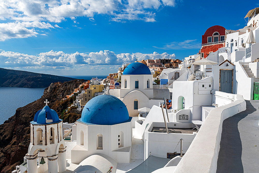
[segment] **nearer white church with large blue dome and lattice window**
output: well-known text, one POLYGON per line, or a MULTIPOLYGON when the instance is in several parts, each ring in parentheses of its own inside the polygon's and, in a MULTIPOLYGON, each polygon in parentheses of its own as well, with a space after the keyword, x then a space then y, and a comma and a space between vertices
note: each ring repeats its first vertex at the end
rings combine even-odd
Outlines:
MULTIPOLYGON (((112 95, 99 95, 85 105, 77 120, 76 146, 71 150, 71 162, 79 164, 94 154, 104 154, 116 162, 129 163, 132 126, 126 105, 112 95)), ((102 164, 102 163, 99 163, 102 164)))

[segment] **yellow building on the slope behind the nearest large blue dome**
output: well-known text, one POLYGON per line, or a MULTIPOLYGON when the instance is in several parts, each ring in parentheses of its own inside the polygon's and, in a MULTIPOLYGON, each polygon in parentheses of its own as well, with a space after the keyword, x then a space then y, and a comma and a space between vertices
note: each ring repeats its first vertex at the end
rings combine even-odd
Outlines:
POLYGON ((103 85, 90 85, 90 89, 85 89, 85 93, 83 93, 83 98, 80 100, 80 105, 85 106, 85 104, 94 98, 95 93, 102 92, 104 89, 103 85))

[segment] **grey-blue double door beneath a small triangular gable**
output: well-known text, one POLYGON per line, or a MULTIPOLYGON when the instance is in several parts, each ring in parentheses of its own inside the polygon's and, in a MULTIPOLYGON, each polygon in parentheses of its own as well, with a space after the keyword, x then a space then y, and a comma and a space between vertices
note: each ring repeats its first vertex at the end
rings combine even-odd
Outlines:
POLYGON ((232 93, 232 70, 220 71, 220 91, 232 93))

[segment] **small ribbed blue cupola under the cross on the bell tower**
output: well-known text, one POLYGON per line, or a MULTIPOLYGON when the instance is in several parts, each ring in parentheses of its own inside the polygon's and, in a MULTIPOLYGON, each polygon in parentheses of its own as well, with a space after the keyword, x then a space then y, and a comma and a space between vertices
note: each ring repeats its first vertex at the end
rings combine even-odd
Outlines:
POLYGON ((35 114, 33 122, 36 122, 37 124, 48 124, 46 123, 46 113, 47 120, 52 120, 50 124, 60 121, 59 116, 55 110, 49 108, 48 106, 44 106, 43 109, 38 110, 38 112, 35 114))

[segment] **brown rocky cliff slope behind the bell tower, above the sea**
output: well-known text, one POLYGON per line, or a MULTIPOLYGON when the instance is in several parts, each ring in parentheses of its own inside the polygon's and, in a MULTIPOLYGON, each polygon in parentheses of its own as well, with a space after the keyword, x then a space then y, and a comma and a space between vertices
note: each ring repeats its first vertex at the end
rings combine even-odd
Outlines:
POLYGON ((62 101, 66 95, 71 94, 74 88, 82 84, 83 80, 72 80, 64 82, 60 86, 50 85, 44 90, 40 99, 18 108, 14 116, 10 117, 0 125, 0 171, 11 172, 16 165, 23 163, 23 157, 28 152, 30 144, 30 121, 35 113, 45 106, 44 101, 48 99, 48 106, 56 110, 59 117, 64 117, 64 122, 75 122, 81 117, 80 114, 64 110, 73 103, 75 96, 62 101))

